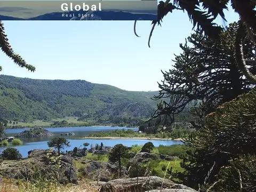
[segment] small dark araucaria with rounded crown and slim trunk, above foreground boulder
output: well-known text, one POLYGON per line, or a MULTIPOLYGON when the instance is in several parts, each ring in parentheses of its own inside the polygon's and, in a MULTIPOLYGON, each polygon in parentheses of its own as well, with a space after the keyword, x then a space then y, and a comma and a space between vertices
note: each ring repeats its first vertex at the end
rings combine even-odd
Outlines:
POLYGON ((123 146, 122 144, 115 145, 110 151, 109 151, 109 162, 110 163, 117 163, 119 166, 119 177, 122 177, 122 159, 128 157, 128 148, 126 146, 123 146))

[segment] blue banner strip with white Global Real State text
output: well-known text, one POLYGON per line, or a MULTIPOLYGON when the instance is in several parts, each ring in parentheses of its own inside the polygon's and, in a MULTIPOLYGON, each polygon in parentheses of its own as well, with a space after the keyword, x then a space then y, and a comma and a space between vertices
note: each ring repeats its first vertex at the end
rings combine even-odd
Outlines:
POLYGON ((0 20, 156 20, 157 1, 1 1, 0 20))

